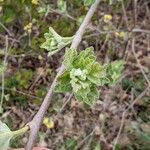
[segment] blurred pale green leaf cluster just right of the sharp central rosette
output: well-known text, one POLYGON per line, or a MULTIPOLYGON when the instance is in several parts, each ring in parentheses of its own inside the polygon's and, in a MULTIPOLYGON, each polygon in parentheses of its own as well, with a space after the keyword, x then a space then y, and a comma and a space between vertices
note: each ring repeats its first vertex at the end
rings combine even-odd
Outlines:
POLYGON ((120 60, 120 61, 114 61, 111 62, 108 65, 107 68, 107 76, 109 78, 109 85, 114 86, 120 79, 121 72, 124 68, 125 62, 120 60))

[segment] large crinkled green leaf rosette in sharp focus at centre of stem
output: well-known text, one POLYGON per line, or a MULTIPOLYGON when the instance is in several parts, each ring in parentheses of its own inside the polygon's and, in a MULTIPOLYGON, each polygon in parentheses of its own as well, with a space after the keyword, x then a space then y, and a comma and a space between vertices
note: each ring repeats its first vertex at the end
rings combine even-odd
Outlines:
POLYGON ((100 83, 102 69, 96 62, 93 50, 93 47, 89 47, 78 54, 75 49, 66 49, 65 72, 58 78, 56 91, 72 90, 80 102, 94 104, 98 98, 95 85, 100 83))

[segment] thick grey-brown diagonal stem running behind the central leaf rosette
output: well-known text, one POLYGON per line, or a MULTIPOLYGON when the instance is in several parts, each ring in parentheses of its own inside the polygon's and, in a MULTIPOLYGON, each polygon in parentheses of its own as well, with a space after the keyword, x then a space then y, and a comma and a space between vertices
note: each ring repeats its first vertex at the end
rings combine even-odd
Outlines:
MULTIPOLYGON (((90 7, 84 21, 82 22, 79 30, 76 32, 75 37, 72 41, 71 44, 71 48, 76 49, 79 45, 79 43, 82 40, 82 36, 84 34, 84 31, 86 29, 86 27, 88 26, 89 22, 91 21, 91 18, 94 14, 94 12, 96 11, 98 4, 100 3, 100 0, 96 0, 95 3, 90 7)), ((26 145, 26 150, 31 150, 33 148, 37 133, 40 129, 40 125, 42 123, 43 117, 50 105, 50 102, 52 100, 52 96, 53 96, 53 89, 56 86, 56 82, 57 82, 57 78, 58 76, 60 76, 63 71, 64 71, 65 67, 62 64, 60 67, 59 72, 57 73, 54 81, 52 82, 52 85, 50 86, 48 93, 46 94, 43 103, 40 107, 40 109, 38 110, 37 114, 34 116, 34 118, 32 119, 31 122, 28 123, 28 126, 30 127, 30 135, 29 135, 29 139, 26 145)))

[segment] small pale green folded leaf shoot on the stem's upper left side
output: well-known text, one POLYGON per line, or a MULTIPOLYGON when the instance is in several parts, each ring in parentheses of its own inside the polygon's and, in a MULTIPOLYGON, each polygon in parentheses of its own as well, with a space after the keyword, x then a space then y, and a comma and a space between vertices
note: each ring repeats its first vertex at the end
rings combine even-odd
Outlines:
POLYGON ((44 37, 46 41, 41 45, 41 48, 49 51, 49 56, 70 44, 73 39, 73 37, 61 37, 52 27, 49 27, 49 33, 45 33, 44 37))

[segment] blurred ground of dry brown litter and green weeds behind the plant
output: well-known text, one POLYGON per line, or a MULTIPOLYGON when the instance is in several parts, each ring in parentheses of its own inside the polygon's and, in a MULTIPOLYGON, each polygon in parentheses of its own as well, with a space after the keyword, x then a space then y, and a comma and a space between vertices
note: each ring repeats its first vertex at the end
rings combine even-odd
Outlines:
MULTIPOLYGON (((48 57, 40 48, 44 33, 51 26, 73 36, 88 9, 83 0, 0 0, 0 119, 12 130, 36 114, 63 60, 64 50, 48 57)), ((103 87, 92 108, 55 94, 37 146, 111 150, 121 129, 116 150, 149 150, 150 1, 102 0, 79 50, 89 46, 101 63, 126 61, 122 80, 103 87)), ((11 147, 26 141, 16 138, 11 147)))

